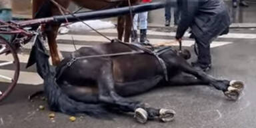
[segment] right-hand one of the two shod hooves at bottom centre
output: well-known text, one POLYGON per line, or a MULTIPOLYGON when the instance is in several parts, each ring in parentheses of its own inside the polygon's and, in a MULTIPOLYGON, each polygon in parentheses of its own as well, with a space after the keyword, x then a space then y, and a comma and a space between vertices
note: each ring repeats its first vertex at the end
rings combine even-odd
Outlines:
POLYGON ((159 119, 163 122, 173 121, 175 116, 175 111, 171 109, 160 109, 159 111, 159 119))

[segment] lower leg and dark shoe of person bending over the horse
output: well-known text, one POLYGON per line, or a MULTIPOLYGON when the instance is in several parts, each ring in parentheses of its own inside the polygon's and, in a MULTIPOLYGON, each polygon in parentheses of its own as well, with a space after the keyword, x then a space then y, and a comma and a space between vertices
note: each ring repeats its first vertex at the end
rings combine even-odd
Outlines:
POLYGON ((203 69, 203 71, 208 71, 211 68, 211 49, 210 43, 204 46, 202 42, 195 39, 198 47, 197 61, 191 63, 193 67, 198 69, 203 69))

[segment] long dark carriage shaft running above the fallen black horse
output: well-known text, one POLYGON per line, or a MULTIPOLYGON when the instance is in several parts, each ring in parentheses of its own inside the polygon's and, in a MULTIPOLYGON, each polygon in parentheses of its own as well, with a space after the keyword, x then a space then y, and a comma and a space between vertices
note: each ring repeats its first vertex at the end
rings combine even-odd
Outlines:
POLYGON ((105 19, 109 17, 117 17, 119 15, 126 15, 130 13, 130 9, 132 13, 141 13, 145 11, 151 11, 155 9, 161 9, 165 7, 165 2, 155 2, 155 3, 147 3, 143 5, 135 5, 131 7, 120 7, 115 9, 104 9, 99 11, 89 11, 89 12, 81 12, 75 13, 75 17, 73 15, 57 15, 53 17, 41 18, 41 19, 32 19, 28 21, 21 21, 19 25, 21 27, 40 25, 42 23, 65 23, 67 22, 75 22, 80 20, 89 20, 89 19, 105 19))

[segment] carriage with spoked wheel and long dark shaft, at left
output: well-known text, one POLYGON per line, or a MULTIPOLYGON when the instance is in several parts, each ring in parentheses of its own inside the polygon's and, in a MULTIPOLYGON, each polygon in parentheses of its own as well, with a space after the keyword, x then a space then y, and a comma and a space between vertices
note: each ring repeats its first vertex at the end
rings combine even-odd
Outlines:
MULTIPOLYGON (((32 27, 41 24, 51 24, 51 23, 65 23, 66 20, 69 22, 75 22, 79 20, 88 19, 103 19, 107 17, 115 17, 119 15, 124 15, 130 13, 138 13, 142 11, 150 11, 153 9, 159 9, 164 6, 164 3, 150 3, 147 5, 137 5, 134 7, 122 7, 119 9, 107 9, 101 11, 91 11, 85 13, 75 13, 72 15, 57 15, 54 17, 47 17, 41 19, 31 19, 27 21, 19 22, 4 22, 0 21, 0 56, 3 58, 8 58, 7 61, 2 61, 0 63, 1 67, 12 67, 13 73, 5 73, 0 75, 0 79, 6 84, 5 87, 0 88, 0 101, 2 101, 17 85, 20 72, 20 63, 17 52, 19 48, 26 45, 35 35, 40 35, 40 30, 31 30, 32 27), (7 41, 3 35, 12 35, 12 39, 7 41)), ((2 85, 3 86, 3 85, 2 85)))

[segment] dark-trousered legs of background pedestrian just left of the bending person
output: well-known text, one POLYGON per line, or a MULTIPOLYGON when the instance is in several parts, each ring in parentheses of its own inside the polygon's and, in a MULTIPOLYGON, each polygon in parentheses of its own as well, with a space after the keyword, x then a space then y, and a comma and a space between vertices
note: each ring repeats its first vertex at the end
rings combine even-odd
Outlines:
MULTIPOLYGON (((170 26, 171 23, 171 0, 167 0, 167 4, 165 5, 165 26, 170 26)), ((175 3, 177 0, 173 1, 175 3)), ((181 17, 181 11, 179 11, 179 8, 177 7, 177 4, 173 6, 173 17, 174 17, 174 25, 178 25, 179 19, 181 17)))

